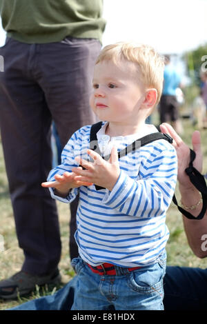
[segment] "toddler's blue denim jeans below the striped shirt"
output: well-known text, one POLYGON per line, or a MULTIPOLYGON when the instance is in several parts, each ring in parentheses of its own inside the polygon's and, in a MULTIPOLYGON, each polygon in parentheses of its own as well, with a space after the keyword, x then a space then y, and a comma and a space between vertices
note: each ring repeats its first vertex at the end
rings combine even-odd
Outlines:
POLYGON ((116 275, 95 274, 81 258, 72 259, 77 287, 71 310, 163 310, 166 254, 157 263, 116 275))

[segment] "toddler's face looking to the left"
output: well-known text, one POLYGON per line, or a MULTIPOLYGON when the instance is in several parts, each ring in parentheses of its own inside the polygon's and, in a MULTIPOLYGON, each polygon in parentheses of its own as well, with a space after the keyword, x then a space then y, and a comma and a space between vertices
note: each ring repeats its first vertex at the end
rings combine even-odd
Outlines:
POLYGON ((135 65, 130 62, 122 61, 117 66, 112 61, 101 61, 95 65, 90 105, 101 121, 135 124, 145 97, 144 85, 138 79, 135 65))

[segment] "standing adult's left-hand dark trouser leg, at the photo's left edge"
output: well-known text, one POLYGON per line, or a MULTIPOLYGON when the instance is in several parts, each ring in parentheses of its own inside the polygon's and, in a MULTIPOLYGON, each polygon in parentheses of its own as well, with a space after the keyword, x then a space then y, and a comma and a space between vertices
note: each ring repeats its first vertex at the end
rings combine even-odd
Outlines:
POLYGON ((34 46, 10 39, 0 54, 0 126, 22 270, 48 274, 61 253, 55 201, 41 188, 51 168, 51 115, 33 72, 34 46))

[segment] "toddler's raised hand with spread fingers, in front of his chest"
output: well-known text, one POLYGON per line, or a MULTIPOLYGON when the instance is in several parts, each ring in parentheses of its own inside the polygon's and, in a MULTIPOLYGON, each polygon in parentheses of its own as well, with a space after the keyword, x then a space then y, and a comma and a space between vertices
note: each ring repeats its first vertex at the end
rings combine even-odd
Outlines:
POLYGON ((102 159, 101 156, 93 150, 88 150, 88 154, 93 159, 93 163, 79 158, 75 159, 86 169, 81 170, 80 168, 72 168, 72 172, 77 174, 75 180, 95 183, 96 185, 112 191, 120 174, 117 149, 112 148, 109 161, 102 159))

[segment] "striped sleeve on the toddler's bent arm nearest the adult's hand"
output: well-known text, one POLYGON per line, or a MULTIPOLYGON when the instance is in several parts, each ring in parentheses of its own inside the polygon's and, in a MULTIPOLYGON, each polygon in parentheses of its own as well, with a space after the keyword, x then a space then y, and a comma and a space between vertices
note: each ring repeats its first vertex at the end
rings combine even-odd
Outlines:
POLYGON ((177 154, 173 147, 152 154, 140 165, 139 179, 121 170, 119 179, 103 203, 129 216, 156 217, 168 210, 177 182, 177 154))

